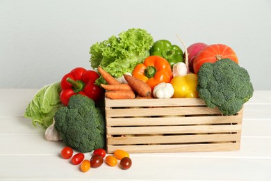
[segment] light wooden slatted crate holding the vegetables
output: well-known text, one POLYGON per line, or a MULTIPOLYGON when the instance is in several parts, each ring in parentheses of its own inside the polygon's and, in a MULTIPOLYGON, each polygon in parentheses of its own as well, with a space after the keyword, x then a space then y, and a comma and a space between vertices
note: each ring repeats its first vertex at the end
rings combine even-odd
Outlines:
POLYGON ((201 99, 105 100, 107 152, 240 149, 243 109, 222 116, 201 99))

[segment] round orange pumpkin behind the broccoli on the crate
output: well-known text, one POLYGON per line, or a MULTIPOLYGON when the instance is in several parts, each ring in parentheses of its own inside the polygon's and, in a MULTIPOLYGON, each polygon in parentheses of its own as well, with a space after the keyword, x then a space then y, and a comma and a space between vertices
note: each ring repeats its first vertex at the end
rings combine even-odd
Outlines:
POLYGON ((215 61, 219 61, 222 58, 229 58, 238 63, 236 53, 227 45, 215 44, 205 47, 195 56, 193 64, 194 73, 197 74, 199 72, 202 64, 206 62, 215 63, 215 61))

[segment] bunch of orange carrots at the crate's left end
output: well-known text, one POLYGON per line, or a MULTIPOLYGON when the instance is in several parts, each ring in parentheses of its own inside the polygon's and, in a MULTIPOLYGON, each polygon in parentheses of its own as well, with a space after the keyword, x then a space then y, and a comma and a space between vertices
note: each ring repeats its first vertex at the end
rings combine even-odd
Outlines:
POLYGON ((140 79, 124 74, 127 83, 120 83, 101 67, 98 67, 98 71, 107 82, 107 84, 101 84, 101 87, 106 90, 106 97, 112 100, 134 99, 136 94, 141 97, 151 96, 151 87, 140 79))

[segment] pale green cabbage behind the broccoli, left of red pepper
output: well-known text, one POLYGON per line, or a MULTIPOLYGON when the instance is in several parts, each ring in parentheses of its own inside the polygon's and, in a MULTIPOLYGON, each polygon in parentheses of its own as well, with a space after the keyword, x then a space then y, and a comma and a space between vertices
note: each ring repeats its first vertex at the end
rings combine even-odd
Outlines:
POLYGON ((41 88, 26 107, 24 117, 31 118, 35 127, 36 123, 49 127, 53 123, 56 111, 63 107, 59 97, 60 91, 60 82, 41 88))

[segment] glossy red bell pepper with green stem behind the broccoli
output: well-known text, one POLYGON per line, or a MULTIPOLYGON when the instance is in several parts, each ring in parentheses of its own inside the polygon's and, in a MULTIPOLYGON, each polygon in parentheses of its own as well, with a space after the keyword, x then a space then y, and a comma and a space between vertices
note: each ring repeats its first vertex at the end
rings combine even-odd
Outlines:
POLYGON ((61 79, 61 102, 67 106, 69 97, 76 94, 88 96, 95 103, 99 102, 104 98, 104 89, 95 84, 99 77, 99 74, 93 70, 74 68, 61 79))

